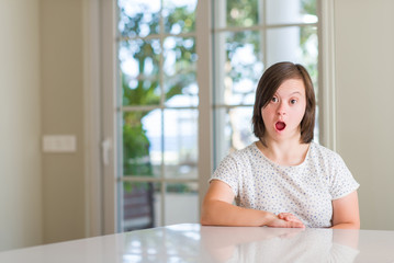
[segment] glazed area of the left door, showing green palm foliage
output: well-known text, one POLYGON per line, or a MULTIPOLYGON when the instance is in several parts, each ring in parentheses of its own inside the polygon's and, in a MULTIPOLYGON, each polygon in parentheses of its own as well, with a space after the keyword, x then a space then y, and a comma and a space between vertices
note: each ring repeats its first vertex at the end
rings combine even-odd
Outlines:
POLYGON ((196 0, 117 10, 117 230, 198 222, 196 0))

